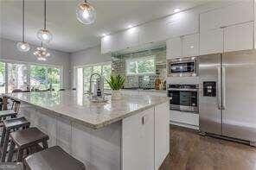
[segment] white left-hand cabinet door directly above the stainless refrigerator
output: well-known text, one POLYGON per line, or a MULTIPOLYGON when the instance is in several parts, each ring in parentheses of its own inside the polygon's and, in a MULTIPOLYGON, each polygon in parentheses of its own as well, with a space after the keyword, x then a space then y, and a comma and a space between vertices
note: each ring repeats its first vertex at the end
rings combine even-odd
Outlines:
POLYGON ((200 54, 223 53, 223 29, 200 33, 200 54))

